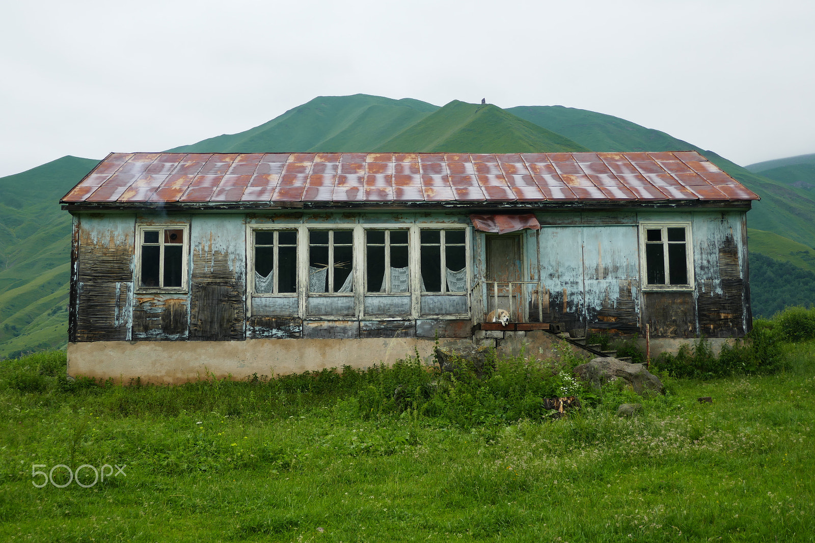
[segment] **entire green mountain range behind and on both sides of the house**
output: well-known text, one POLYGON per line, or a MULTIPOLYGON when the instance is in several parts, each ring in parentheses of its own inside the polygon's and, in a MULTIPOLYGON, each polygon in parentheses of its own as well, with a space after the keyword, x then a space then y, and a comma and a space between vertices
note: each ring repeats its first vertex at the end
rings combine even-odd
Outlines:
MULTIPOLYGON (((694 149, 757 192, 748 216, 754 302, 813 302, 805 285, 815 247, 815 192, 795 177, 804 155, 742 168, 659 130, 578 108, 519 106, 457 100, 443 107, 416 99, 320 96, 280 117, 233 135, 220 135, 174 152, 557 152, 694 149), (754 166, 773 163, 756 170, 754 166), (779 171, 776 171, 779 170, 779 171), (796 184, 798 183, 798 184, 796 184), (795 275, 795 285, 784 276, 795 275), (800 277, 799 277, 800 276, 800 277), (789 287, 789 288, 786 288, 789 287), (756 295, 757 289, 761 290, 756 295), (769 292, 778 292, 773 297, 769 292)), ((98 161, 62 157, 0 178, 0 358, 67 340, 71 219, 59 197, 98 161)), ((757 315, 766 311, 756 311, 757 315)))

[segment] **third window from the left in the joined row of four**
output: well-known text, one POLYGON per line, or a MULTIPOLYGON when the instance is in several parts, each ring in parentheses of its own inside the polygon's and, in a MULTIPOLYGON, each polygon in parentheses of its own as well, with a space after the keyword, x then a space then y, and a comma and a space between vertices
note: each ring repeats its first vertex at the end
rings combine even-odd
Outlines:
POLYGON ((405 294, 411 291, 410 231, 365 231, 365 285, 368 293, 405 294))

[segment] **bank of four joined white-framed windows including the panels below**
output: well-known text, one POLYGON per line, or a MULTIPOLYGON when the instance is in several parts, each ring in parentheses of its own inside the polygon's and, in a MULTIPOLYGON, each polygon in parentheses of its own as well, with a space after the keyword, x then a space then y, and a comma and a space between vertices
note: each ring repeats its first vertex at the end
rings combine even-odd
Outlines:
POLYGON ((468 227, 458 224, 249 224, 249 311, 460 318, 469 314, 469 239, 468 227))

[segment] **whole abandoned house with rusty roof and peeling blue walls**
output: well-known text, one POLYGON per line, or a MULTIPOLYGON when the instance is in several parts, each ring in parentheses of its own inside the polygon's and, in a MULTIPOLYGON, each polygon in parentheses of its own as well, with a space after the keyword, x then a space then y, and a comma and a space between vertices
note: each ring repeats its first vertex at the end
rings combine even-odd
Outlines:
POLYGON ((61 202, 68 371, 359 367, 554 323, 741 337, 757 199, 697 152, 113 153, 61 202))

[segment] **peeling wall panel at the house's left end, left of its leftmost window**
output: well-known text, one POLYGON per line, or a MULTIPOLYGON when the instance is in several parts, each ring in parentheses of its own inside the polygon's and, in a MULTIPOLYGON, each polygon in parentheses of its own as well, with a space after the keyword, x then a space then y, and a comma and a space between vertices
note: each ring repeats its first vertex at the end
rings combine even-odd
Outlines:
POLYGON ((135 216, 86 214, 78 218, 73 273, 77 342, 131 338, 135 216))

